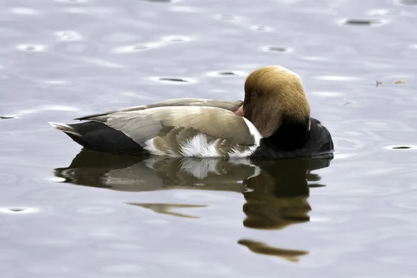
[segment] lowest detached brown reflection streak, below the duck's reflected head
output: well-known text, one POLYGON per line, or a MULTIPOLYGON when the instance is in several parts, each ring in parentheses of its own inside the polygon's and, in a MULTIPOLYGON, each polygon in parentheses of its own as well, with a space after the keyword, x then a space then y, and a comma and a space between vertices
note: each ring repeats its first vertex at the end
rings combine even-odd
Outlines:
POLYGON ((279 256, 286 261, 297 262, 300 261, 300 256, 309 254, 304 250, 291 250, 272 247, 266 243, 261 243, 255 240, 241 239, 238 240, 238 244, 246 246, 249 250, 256 254, 263 254, 268 256, 279 256))

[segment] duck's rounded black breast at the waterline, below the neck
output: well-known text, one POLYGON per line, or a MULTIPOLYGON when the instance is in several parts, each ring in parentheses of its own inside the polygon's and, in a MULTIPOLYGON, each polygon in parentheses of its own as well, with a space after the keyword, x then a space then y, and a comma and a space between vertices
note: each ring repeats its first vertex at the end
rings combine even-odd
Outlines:
MULTIPOLYGON (((283 135, 284 136, 284 135, 283 135)), ((279 147, 268 138, 261 139, 260 146, 252 156, 256 158, 291 158, 332 154, 332 136, 319 120, 311 118, 311 126, 306 141, 301 147, 286 149, 279 147)))

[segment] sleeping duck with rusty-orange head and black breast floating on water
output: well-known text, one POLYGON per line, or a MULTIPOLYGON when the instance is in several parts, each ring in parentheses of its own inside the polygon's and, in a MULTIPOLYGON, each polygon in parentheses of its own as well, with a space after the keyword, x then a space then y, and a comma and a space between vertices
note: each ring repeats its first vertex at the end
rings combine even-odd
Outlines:
POLYGON ((332 136, 310 117, 300 76, 279 65, 247 76, 243 101, 170 99, 49 122, 86 149, 171 157, 295 158, 332 154, 332 136))

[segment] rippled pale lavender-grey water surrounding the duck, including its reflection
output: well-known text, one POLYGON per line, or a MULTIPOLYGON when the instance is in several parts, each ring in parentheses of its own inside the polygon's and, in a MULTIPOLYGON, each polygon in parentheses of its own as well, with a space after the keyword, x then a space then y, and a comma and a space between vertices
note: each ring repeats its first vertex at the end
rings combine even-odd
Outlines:
POLYGON ((3 0, 0 20, 1 277, 416 276, 417 1, 3 0), (79 154, 47 124, 241 99, 271 64, 332 161, 79 154))

